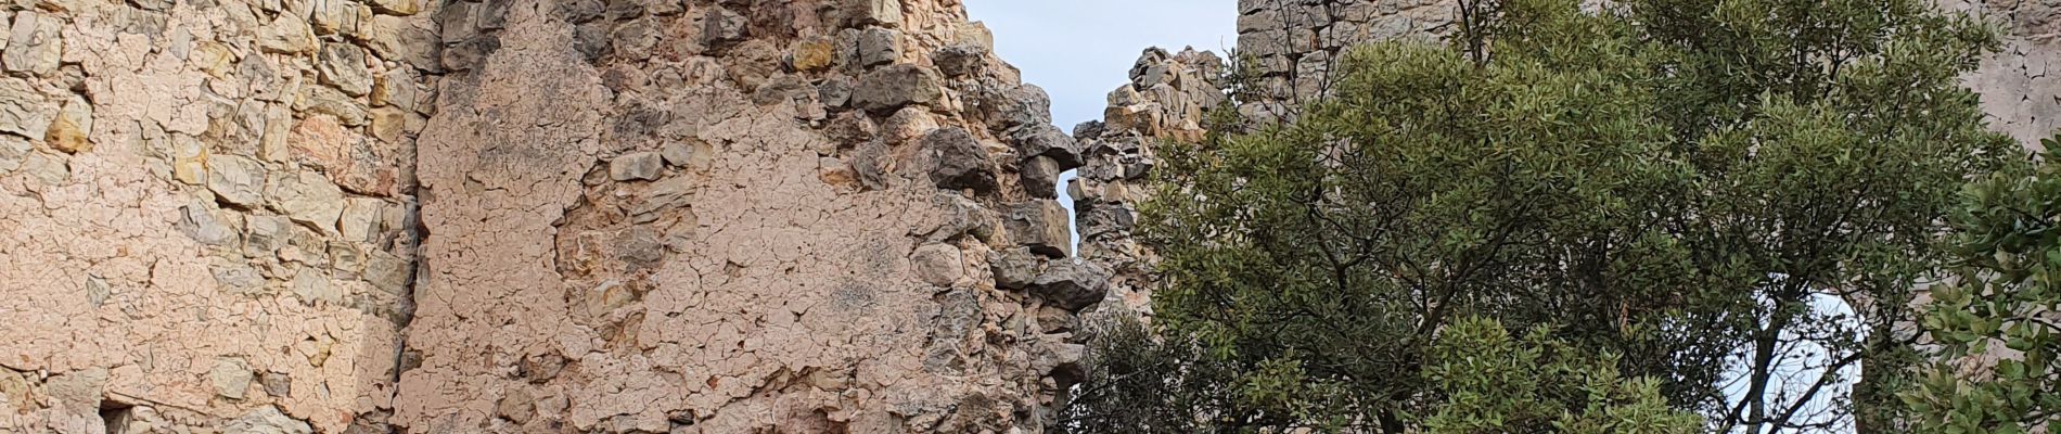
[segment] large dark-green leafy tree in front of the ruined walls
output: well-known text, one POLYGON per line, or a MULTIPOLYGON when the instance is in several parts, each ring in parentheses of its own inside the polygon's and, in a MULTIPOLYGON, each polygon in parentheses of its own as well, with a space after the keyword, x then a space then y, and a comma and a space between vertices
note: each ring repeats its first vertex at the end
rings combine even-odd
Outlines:
MULTIPOLYGON (((1995 37, 1917 0, 1620 6, 1467 2, 1453 45, 1352 49, 1292 125, 1162 148, 1156 313, 1210 372, 1167 372, 1210 397, 1171 413, 1420 430, 1453 387, 1434 335, 1469 315, 1610 350, 1719 430, 1822 418, 1820 387, 1777 387, 1801 341, 1838 362, 1818 385, 1865 362, 1855 397, 1890 395, 1911 346, 1882 331, 1941 265, 1958 187, 2020 156, 1956 78, 1995 37)), ((1830 418, 1898 418, 1871 405, 1830 418)))

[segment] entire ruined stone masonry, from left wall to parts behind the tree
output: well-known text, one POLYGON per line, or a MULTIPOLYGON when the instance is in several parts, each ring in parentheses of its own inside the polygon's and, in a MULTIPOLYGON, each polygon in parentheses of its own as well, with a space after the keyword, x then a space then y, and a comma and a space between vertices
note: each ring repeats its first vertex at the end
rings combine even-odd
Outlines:
MULTIPOLYGON (((1441 29, 1292 4, 1381 19, 1241 2, 1278 101, 1441 29)), ((2055 6, 1979 10, 2051 128, 2055 6)), ((0 432, 1039 432, 1222 60, 1070 136, 991 51, 958 0, 0 0, 0 432)))

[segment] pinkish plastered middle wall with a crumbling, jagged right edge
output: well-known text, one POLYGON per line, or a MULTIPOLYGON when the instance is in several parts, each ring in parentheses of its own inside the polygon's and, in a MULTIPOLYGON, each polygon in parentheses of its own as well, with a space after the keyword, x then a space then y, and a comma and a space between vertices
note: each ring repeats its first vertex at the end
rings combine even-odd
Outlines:
MULTIPOLYGON (((470 8, 480 10, 478 4, 470 8)), ((455 16, 458 12, 453 12, 455 16)), ((478 14, 478 12, 474 12, 478 14)), ((1078 146, 952 0, 515 0, 420 142, 414 432, 1035 432, 1078 146), (1022 276, 991 263, 1020 261, 1022 276)))

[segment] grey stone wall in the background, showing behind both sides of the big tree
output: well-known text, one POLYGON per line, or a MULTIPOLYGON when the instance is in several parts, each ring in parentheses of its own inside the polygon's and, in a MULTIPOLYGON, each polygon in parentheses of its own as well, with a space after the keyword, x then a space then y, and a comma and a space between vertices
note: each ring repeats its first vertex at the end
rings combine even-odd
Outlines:
MULTIPOLYGON (((1364 41, 1441 39, 1457 31, 1457 0, 1239 0, 1239 49, 1257 62, 1251 119, 1280 119, 1323 95, 1344 49, 1364 41)), ((2055 0, 1941 0, 1999 23, 2001 53, 1968 76, 1997 132, 2038 144, 2061 128, 2061 4, 2055 0)))

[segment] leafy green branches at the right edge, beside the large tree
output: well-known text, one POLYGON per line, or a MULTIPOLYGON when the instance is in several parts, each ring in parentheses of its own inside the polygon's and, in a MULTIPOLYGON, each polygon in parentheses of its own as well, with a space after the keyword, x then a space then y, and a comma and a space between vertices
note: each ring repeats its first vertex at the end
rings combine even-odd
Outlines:
POLYGON ((1939 364, 1904 395, 1923 432, 2061 426, 2061 136, 2042 142, 2034 173, 1972 183, 1954 212, 1960 267, 1921 323, 1939 364))

